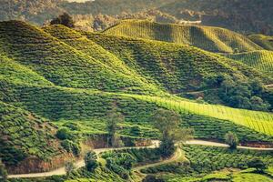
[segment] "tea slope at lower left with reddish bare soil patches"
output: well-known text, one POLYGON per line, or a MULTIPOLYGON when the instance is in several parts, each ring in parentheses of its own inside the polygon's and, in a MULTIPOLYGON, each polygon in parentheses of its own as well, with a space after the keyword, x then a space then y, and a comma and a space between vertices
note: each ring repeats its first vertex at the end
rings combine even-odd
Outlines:
POLYGON ((0 102, 0 120, 0 157, 8 167, 26 157, 47 160, 60 154, 56 128, 45 119, 0 102))

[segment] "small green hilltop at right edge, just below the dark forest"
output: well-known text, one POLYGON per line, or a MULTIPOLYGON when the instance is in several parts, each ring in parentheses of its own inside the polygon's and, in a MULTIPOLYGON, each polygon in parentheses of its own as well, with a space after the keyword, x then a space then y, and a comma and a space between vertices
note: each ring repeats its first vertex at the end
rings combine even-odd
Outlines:
POLYGON ((273 51, 273 36, 267 35, 248 35, 248 38, 264 49, 273 51))

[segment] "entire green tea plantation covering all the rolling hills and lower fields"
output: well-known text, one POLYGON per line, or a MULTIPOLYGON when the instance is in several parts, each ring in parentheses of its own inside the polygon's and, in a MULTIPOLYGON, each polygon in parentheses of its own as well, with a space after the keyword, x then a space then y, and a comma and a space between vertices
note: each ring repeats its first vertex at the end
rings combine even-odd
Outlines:
MULTIPOLYGON (((124 116, 116 126, 124 141, 134 146, 136 139, 158 139, 159 130, 150 120, 158 108, 177 113, 179 126, 194 129, 195 138, 224 142, 231 131, 239 144, 272 146, 272 95, 266 86, 273 83, 272 52, 264 49, 248 36, 217 27, 130 20, 95 34, 63 25, 0 22, 0 158, 9 173, 62 167, 66 159, 83 157, 90 140, 96 138, 98 146, 106 143, 106 122, 113 110, 124 116), (259 90, 253 88, 253 80, 258 80, 254 87, 259 90), (227 96, 232 87, 228 84, 245 86, 236 99, 252 98, 267 107, 231 107, 213 96, 218 90, 227 96), (209 103, 217 105, 203 98, 205 91, 215 101, 209 103), (183 97, 194 92, 197 99, 183 97), (60 131, 65 131, 61 137, 60 131)), ((253 157, 273 165, 271 151, 187 145, 182 149, 189 168, 182 161, 183 165, 175 162, 142 172, 194 181, 225 168, 245 169, 253 157)), ((130 181, 145 177, 131 167, 163 159, 157 148, 115 150, 98 157, 93 172, 81 167, 69 177, 10 181, 130 181)), ((255 174, 226 176, 251 175, 255 174)))

